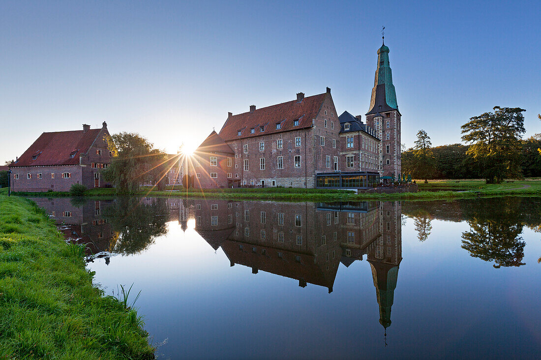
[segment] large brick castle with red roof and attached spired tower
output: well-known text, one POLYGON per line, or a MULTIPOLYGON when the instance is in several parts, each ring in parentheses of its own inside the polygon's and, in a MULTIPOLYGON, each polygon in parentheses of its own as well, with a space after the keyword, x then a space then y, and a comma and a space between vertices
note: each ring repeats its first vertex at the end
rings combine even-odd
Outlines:
POLYGON ((368 188, 398 178, 401 115, 388 53, 385 44, 378 49, 366 123, 347 111, 338 116, 329 88, 299 92, 292 101, 229 112, 182 171, 196 188, 368 188))

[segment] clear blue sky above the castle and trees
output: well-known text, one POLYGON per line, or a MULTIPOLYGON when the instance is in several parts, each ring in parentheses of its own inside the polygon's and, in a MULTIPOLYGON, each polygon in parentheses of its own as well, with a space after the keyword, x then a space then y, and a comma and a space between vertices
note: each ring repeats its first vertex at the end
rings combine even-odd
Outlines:
POLYGON ((0 161, 43 131, 135 131, 194 147, 227 117, 332 89, 365 114, 385 44, 402 139, 434 145, 495 105, 541 132, 539 1, 1 2, 0 161))

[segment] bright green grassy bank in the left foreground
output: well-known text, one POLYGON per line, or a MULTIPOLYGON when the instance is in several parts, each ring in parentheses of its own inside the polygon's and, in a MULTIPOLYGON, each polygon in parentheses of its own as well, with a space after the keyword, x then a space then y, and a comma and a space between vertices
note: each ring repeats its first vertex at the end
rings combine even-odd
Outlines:
POLYGON ((134 309, 92 285, 45 212, 0 193, 0 358, 153 358, 134 309))

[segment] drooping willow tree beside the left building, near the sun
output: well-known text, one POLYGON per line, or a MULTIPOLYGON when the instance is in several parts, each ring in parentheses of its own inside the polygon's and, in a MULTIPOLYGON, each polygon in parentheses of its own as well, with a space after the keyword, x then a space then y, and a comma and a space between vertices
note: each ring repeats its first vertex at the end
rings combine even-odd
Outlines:
POLYGON ((115 185, 118 194, 135 194, 141 184, 163 179, 166 170, 162 164, 167 155, 154 149, 146 138, 134 132, 120 132, 107 141, 113 158, 103 177, 115 185))

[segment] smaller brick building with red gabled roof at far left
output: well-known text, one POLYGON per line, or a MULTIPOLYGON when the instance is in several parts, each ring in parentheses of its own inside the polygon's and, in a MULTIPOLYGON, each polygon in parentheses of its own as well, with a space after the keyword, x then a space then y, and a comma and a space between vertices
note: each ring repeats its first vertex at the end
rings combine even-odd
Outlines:
POLYGON ((9 166, 13 191, 69 191, 72 184, 108 185, 101 172, 110 164, 107 123, 101 129, 44 132, 9 166))

